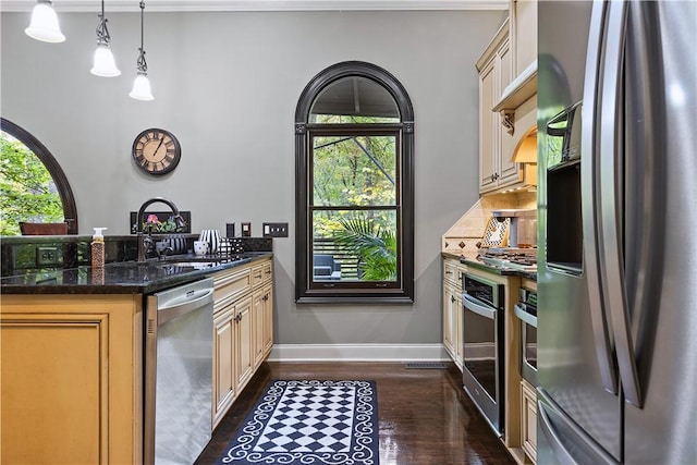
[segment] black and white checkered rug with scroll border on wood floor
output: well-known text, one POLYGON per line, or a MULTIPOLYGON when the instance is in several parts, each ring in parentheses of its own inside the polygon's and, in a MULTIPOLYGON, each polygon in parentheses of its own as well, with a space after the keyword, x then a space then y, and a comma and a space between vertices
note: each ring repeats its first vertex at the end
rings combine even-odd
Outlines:
POLYGON ((271 381, 217 465, 379 465, 375 381, 271 381))

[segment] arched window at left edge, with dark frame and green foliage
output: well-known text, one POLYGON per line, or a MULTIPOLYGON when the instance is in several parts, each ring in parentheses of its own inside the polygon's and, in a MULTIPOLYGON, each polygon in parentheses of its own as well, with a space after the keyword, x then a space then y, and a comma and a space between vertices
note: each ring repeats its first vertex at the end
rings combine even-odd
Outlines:
POLYGON ((77 234, 77 207, 65 173, 32 134, 0 119, 2 234, 20 234, 19 222, 68 222, 77 234), (38 159, 38 160, 37 160, 38 159))

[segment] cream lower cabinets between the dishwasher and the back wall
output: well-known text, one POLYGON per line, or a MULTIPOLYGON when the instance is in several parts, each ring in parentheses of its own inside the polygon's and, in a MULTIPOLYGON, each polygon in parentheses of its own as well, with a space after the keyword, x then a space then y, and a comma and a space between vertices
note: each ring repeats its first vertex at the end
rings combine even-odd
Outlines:
POLYGON ((271 281, 270 258, 213 276, 213 428, 271 351, 271 281))

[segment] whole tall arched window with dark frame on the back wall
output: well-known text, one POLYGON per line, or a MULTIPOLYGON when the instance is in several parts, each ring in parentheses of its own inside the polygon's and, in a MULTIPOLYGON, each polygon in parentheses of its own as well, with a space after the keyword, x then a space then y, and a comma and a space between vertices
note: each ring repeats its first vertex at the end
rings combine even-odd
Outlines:
POLYGON ((414 112, 375 64, 315 76, 295 112, 295 299, 414 301, 414 112))

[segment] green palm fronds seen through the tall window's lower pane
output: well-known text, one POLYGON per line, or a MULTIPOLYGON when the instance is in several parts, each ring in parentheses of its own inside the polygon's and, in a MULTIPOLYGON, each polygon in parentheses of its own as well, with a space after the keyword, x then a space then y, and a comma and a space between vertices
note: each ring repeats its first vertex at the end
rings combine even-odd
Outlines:
POLYGON ((334 241, 358 258, 359 278, 365 281, 396 280, 394 232, 365 217, 341 219, 339 222, 342 229, 334 232, 334 241))

